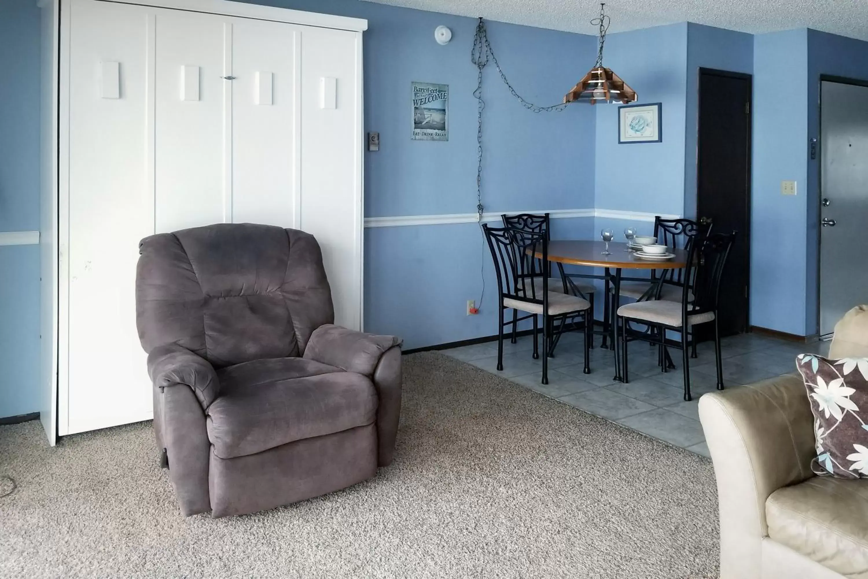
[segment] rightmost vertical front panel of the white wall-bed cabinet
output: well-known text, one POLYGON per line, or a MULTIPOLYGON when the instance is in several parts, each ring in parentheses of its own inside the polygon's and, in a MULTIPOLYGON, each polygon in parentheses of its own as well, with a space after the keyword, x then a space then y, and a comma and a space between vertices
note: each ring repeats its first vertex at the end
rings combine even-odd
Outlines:
POLYGON ((361 37, 345 30, 311 28, 304 30, 301 39, 301 229, 313 234, 322 247, 335 323, 358 330, 362 316, 361 37), (320 106, 323 78, 334 79, 337 86, 333 109, 320 106))

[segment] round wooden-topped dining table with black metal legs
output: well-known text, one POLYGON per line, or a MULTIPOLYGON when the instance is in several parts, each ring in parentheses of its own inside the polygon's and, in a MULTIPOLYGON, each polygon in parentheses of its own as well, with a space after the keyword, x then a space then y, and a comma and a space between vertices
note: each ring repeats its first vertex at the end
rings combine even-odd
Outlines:
MULTIPOLYGON (((610 241, 608 244, 608 255, 602 253, 605 247, 606 244, 603 241, 552 240, 549 241, 548 258, 549 261, 558 264, 562 276, 605 280, 606 294, 603 300, 602 347, 607 347, 606 339, 608 338, 611 349, 615 350, 615 378, 613 379, 615 382, 621 382, 621 356, 615 343, 615 323, 617 322, 613 323, 613 320, 616 319, 615 313, 618 310, 618 305, 621 303, 621 271, 624 269, 681 269, 687 266, 687 252, 683 249, 670 249, 669 253, 675 254, 672 259, 643 260, 641 257, 635 255, 634 252, 628 251, 626 243, 610 241), (604 274, 599 276, 564 273, 564 264, 602 267, 604 268, 604 274), (609 288, 611 288, 611 293, 609 288), (611 305, 609 303, 610 296, 611 305)), ((542 259, 542 251, 536 251, 534 257, 542 259)), ((657 276, 657 279, 661 280, 661 276, 657 276)))

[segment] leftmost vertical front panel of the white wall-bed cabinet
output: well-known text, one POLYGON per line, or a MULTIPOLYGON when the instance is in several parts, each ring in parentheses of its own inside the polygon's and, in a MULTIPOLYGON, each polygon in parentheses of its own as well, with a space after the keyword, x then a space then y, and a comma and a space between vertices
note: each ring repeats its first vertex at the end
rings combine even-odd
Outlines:
POLYGON ((154 233, 154 198, 145 179, 148 16, 141 7, 93 0, 71 10, 69 197, 61 199, 60 225, 61 259, 69 267, 62 280, 69 306, 62 305, 60 321, 61 367, 68 358, 68 372, 60 375, 61 434, 145 420, 151 412, 135 329, 138 244, 154 233), (105 62, 120 63, 119 98, 102 98, 105 62))

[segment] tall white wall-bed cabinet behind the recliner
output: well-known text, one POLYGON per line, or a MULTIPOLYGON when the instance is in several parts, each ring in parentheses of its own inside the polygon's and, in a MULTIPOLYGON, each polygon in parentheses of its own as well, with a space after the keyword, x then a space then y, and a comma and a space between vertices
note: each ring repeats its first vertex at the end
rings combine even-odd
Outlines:
POLYGON ((365 20, 223 0, 41 0, 43 424, 152 418, 141 238, 220 222, 316 236, 362 326, 365 20))

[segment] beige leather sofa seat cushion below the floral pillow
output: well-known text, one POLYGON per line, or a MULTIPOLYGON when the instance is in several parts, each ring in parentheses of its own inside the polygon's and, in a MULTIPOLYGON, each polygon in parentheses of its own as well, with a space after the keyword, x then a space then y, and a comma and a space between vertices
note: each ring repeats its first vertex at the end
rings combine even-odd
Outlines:
POLYGON ((847 577, 868 576, 868 480, 812 477, 766 501, 768 535, 847 577))

